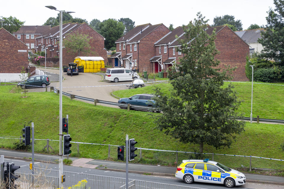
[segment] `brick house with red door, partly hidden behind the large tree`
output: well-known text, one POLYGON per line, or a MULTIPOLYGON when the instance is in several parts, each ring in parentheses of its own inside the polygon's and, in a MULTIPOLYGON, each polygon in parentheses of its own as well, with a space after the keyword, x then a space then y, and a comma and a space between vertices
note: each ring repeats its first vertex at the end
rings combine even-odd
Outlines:
MULTIPOLYGON (((249 45, 227 26, 208 27, 206 32, 211 35, 215 28, 217 34, 215 45, 220 51, 220 54, 215 56, 220 61, 218 67, 221 69, 227 65, 237 67, 233 71, 233 80, 249 81, 245 73, 249 45)), ((155 65, 154 72, 166 71, 173 63, 179 63, 179 58, 184 56, 184 54, 178 51, 181 45, 178 43, 175 35, 179 36, 180 39, 185 38, 182 27, 177 27, 155 42, 155 56, 150 59, 155 65)))

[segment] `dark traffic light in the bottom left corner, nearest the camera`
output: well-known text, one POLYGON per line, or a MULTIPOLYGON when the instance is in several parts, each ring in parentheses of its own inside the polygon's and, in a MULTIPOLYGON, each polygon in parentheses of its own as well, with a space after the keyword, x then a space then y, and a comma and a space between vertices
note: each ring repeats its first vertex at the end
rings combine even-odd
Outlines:
POLYGON ((15 175, 15 171, 20 169, 20 166, 15 166, 14 163, 7 162, 7 170, 4 171, 4 182, 6 183, 6 188, 14 188, 14 181, 20 177, 20 175, 15 175))

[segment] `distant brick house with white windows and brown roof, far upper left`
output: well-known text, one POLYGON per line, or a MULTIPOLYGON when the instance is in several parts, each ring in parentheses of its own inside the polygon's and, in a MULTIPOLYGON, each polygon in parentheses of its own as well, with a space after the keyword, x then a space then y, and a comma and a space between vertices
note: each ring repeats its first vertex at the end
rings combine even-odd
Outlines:
POLYGON ((28 46, 29 52, 34 53, 35 38, 49 30, 50 26, 22 26, 13 35, 28 46))

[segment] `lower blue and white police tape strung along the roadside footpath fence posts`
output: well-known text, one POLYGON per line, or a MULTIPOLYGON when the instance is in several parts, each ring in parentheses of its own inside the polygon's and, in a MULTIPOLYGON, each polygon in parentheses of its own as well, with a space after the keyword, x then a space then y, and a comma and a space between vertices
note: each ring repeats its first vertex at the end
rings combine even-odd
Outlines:
MULTIPOLYGON (((5 138, 5 137, 0 137, 0 139, 16 139, 16 138, 5 138)), ((19 140, 19 139, 17 139, 19 140)), ((49 140, 49 141, 57 141, 59 140, 51 140, 51 139, 35 139, 35 140, 49 140)), ((97 143, 87 143, 87 142, 73 142, 70 141, 71 143, 77 143, 77 144, 94 144, 94 145, 104 145, 104 146, 120 146, 120 145, 112 145, 112 144, 97 144, 97 143)), ((152 150, 152 151, 167 151, 167 152, 180 152, 180 153, 188 153, 188 154, 201 154, 197 152, 187 152, 187 151, 175 151, 175 150, 157 150, 157 149, 150 149, 150 148, 138 148, 141 150, 152 150)), ((214 153, 202 153, 202 154, 214 154, 214 153)), ((214 155, 223 155, 223 156, 235 156, 235 157, 254 157, 254 158, 261 158, 261 159, 270 159, 270 160, 277 160, 277 161, 284 161, 284 159, 274 159, 274 158, 267 158, 267 157, 257 157, 257 156, 243 156, 243 155, 231 155, 231 154, 214 154, 214 155)))

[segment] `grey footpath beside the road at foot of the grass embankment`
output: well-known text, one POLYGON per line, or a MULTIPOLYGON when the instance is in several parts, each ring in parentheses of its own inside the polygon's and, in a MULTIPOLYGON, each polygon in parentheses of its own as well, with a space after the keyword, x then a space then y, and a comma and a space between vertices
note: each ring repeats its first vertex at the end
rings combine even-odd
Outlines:
MULTIPOLYGON (((0 155, 4 155, 5 158, 9 159, 20 159, 25 161, 31 161, 31 159, 28 158, 32 157, 32 154, 30 152, 14 151, 6 149, 0 149, 0 155)), ((34 154, 34 158, 35 162, 56 163, 56 161, 58 161, 58 156, 56 155, 34 154)), ((73 161, 71 166, 125 172, 125 162, 112 162, 107 160, 96 160, 96 159, 76 158, 76 157, 69 157, 69 158, 72 159, 73 161)), ((146 173, 149 175, 174 176, 176 169, 177 169, 176 167, 159 166, 159 165, 146 165, 138 163, 128 164, 129 172, 138 173, 138 174, 146 173)), ((247 182, 284 185, 284 177, 249 174, 249 173, 246 173, 245 175, 247 182)))

